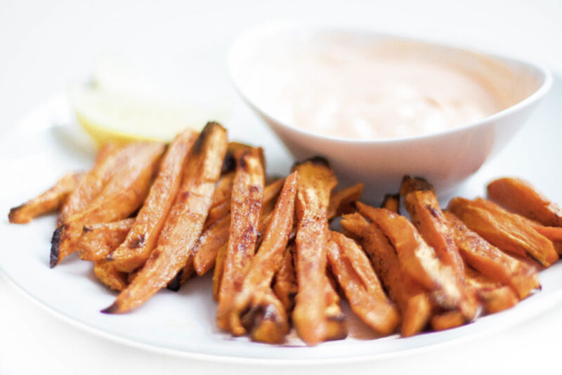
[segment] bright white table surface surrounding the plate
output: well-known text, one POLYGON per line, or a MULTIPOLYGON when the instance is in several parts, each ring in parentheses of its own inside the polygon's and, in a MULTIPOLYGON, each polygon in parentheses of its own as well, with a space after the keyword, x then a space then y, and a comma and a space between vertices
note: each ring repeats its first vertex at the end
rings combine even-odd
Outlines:
MULTIPOLYGON (((70 81, 87 77, 106 53, 144 67, 164 66, 162 81, 190 95, 232 98, 239 105, 224 69, 228 44, 242 29, 275 19, 325 20, 460 42, 540 60, 562 72, 562 1, 1 0, 0 136, 70 81)), ((247 110, 235 115, 261 126, 247 110)), ((9 176, 2 182, 9 183, 9 176)), ((331 364, 322 371, 560 374, 561 316, 559 304, 499 333, 372 363, 331 364)), ((226 366, 131 348, 51 315, 0 273, 2 375, 265 371, 308 374, 311 369, 226 366)))

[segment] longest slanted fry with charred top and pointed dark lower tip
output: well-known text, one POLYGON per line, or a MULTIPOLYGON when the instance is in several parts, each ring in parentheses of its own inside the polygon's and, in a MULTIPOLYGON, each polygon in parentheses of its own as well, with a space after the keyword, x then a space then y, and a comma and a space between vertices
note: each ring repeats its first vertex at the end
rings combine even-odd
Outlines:
POLYGON ((226 146, 226 130, 216 122, 209 122, 190 151, 180 190, 158 237, 156 249, 129 287, 103 313, 124 313, 136 308, 166 287, 187 264, 190 249, 201 235, 211 206, 226 146))

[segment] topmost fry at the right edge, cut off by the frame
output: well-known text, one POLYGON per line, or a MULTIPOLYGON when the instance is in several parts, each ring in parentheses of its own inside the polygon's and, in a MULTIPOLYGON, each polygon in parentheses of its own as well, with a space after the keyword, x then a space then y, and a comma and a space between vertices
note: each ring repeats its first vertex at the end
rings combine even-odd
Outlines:
POLYGON ((488 184, 488 197, 509 211, 549 227, 562 227, 562 209, 519 178, 498 178, 488 184))

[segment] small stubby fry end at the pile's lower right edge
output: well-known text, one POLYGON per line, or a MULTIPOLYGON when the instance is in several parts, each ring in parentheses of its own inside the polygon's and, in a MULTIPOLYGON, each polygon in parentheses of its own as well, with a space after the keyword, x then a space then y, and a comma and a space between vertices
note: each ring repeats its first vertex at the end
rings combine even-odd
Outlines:
POLYGON ((495 282, 471 268, 466 268, 466 282, 483 303, 485 313, 497 313, 511 308, 519 302, 513 289, 495 282))

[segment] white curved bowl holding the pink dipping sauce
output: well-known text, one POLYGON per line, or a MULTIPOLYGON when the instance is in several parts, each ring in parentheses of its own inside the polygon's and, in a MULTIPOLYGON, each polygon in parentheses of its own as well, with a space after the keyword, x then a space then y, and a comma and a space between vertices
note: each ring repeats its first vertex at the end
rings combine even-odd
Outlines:
POLYGON ((364 196, 371 201, 381 198, 384 192, 396 192, 405 174, 423 176, 438 192, 450 192, 514 137, 530 112, 549 91, 552 81, 551 74, 544 67, 515 58, 377 32, 278 24, 249 29, 237 37, 230 48, 228 68, 237 91, 266 121, 296 159, 315 155, 326 157, 336 176, 344 183, 365 183, 364 196), (311 43, 315 40, 311 36, 322 33, 343 33, 346 37, 373 42, 397 41, 423 45, 439 58, 462 64, 464 68, 479 74, 488 74, 490 80, 495 80, 493 84, 497 90, 521 91, 521 100, 480 121, 426 136, 351 140, 299 129, 294 124, 280 121, 279 117, 261 107, 259 95, 256 95, 255 90, 249 89, 249 81, 252 70, 263 63, 259 52, 264 46, 275 49, 277 44, 287 46, 292 43, 311 43), (490 65, 497 64, 505 68, 505 74, 490 70, 490 65), (497 77, 498 75, 502 77, 497 77))

